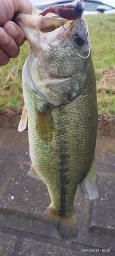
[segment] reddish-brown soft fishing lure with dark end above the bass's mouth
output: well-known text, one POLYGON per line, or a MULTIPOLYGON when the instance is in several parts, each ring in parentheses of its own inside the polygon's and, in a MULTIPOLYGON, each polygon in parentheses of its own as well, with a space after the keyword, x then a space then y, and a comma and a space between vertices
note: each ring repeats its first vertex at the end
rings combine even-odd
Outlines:
POLYGON ((84 10, 83 0, 80 0, 77 2, 75 0, 69 4, 49 6, 45 8, 39 15, 45 16, 47 13, 51 12, 51 13, 55 13, 61 18, 72 20, 72 19, 80 18, 81 15, 83 14, 83 10, 84 10))

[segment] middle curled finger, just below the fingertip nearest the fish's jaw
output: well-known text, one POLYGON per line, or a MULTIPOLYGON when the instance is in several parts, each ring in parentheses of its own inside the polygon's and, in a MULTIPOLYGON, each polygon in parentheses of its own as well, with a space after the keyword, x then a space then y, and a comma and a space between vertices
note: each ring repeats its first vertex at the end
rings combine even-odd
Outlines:
POLYGON ((3 28, 0 28, 0 48, 2 48, 10 58, 16 58, 19 55, 19 47, 3 28))

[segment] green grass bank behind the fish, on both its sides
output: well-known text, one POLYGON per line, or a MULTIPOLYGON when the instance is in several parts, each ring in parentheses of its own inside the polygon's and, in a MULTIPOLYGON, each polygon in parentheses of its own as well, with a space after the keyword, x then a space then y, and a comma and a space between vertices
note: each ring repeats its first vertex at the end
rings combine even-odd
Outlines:
MULTIPOLYGON (((96 71, 98 111, 102 116, 114 118, 115 14, 86 15, 85 19, 88 23, 91 54, 96 71)), ((18 58, 11 59, 7 66, 0 67, 0 111, 17 110, 24 105, 21 74, 28 54, 29 44, 26 41, 20 48, 18 58)))

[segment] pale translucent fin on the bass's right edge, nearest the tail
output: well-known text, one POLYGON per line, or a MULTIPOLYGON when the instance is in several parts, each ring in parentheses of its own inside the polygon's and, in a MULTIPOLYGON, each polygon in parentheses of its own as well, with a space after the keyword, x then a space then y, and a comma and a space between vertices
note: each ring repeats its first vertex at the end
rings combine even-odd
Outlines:
POLYGON ((93 162, 91 163, 89 172, 84 180, 79 184, 82 196, 85 199, 95 200, 98 197, 98 185, 96 179, 96 162, 95 156, 93 162))

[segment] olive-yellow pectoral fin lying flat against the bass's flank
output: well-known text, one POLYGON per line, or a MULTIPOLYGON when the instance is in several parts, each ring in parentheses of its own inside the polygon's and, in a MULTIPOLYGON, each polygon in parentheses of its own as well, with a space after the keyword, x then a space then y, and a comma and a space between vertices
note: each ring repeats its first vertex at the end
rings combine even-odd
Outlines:
POLYGON ((51 141, 53 138, 53 118, 48 109, 48 106, 44 104, 42 111, 36 109, 36 129, 41 139, 45 141, 51 141))

